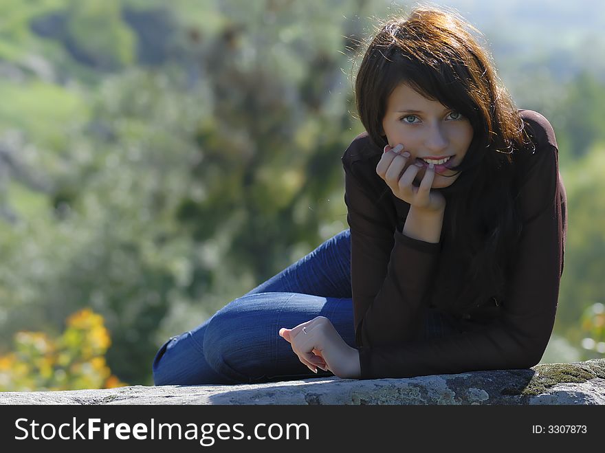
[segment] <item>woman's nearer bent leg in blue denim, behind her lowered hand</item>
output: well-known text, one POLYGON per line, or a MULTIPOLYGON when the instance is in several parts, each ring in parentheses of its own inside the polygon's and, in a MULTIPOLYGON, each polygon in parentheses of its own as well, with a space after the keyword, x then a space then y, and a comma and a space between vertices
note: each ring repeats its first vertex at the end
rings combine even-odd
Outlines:
POLYGON ((332 375, 310 371, 278 333, 281 327, 292 329, 316 316, 328 318, 344 342, 355 347, 350 298, 259 293, 236 299, 212 316, 203 339, 206 360, 233 384, 332 375))

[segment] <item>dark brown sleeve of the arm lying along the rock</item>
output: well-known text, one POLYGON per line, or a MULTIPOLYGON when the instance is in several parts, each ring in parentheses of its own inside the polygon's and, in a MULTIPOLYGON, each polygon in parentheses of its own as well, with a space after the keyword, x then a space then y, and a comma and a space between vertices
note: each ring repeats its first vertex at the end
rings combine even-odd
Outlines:
MULTIPOLYGON (((539 119, 537 126, 553 137, 547 120, 539 119)), ((447 338, 386 346, 364 344, 359 349, 362 379, 538 364, 555 320, 566 232, 565 199, 561 196, 564 188, 553 143, 544 140, 531 156, 525 183, 520 187, 523 229, 503 315, 478 329, 447 338)))

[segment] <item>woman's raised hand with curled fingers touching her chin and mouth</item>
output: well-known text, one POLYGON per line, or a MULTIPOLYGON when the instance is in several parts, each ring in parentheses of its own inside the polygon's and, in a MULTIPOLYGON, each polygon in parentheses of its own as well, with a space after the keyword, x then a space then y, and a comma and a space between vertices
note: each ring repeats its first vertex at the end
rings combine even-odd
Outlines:
POLYGON ((411 164, 410 153, 402 152, 404 146, 384 147, 384 153, 376 166, 376 173, 393 190, 395 197, 406 201, 417 210, 439 212, 445 209, 445 197, 437 190, 430 190, 434 179, 434 168, 427 168, 419 187, 412 182, 422 168, 421 164, 411 164), (406 168, 407 167, 407 168, 406 168), (403 174, 402 174, 403 173, 403 174))

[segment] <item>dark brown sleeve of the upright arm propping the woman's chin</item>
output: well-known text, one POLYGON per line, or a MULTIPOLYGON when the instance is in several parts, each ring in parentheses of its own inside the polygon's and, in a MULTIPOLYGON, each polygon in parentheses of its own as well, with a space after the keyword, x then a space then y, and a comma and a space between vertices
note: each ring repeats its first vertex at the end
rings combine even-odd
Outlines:
MULTIPOLYGON (((344 166, 347 221, 351 230, 351 289, 358 346, 401 343, 415 335, 424 316, 423 298, 437 264, 440 244, 405 236, 396 214, 379 204, 366 161, 344 166), (356 166, 363 166, 356 168, 356 166), (396 219, 395 219, 396 220, 396 219)), ((372 165, 372 164, 371 164, 372 165)))

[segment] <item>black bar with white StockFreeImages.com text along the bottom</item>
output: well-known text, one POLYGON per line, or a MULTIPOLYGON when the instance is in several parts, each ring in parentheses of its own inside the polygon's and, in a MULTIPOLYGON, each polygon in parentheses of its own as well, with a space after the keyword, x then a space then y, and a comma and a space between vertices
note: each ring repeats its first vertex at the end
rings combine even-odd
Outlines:
POLYGON ((600 440, 604 420, 604 406, 0 406, 0 445, 7 452, 50 446, 81 452, 159 442, 179 453, 298 451, 335 443, 373 452, 413 445, 578 448, 600 440))

